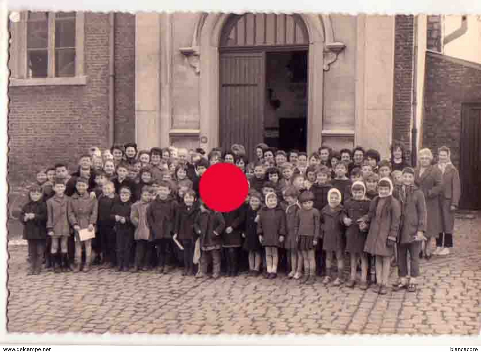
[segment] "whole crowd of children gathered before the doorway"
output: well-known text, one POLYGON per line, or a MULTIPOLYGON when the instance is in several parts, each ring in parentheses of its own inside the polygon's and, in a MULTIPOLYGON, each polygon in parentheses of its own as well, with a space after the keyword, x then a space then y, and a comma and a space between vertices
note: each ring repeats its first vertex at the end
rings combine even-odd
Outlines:
POLYGON ((290 279, 312 284, 324 274, 324 284, 339 286, 347 252, 346 285, 354 287, 360 266, 359 288, 366 290, 370 279, 385 294, 397 251, 394 290, 416 291, 426 207, 399 149, 392 160, 380 160, 375 150, 322 146, 308 158, 261 144, 249 163, 241 145, 207 155, 202 148, 138 151, 134 143, 103 153, 92 147, 71 175, 64 164, 37 173, 21 213, 28 274, 39 274, 43 260, 55 272, 98 264, 165 273, 168 255, 181 253, 182 275, 202 278, 212 266, 215 279, 223 266, 236 276, 245 257, 248 275, 264 269, 274 279, 285 259, 290 279), (217 162, 235 164, 250 184, 245 203, 227 213, 199 197, 203 173, 217 162), (368 278, 369 272, 375 275, 368 278))

